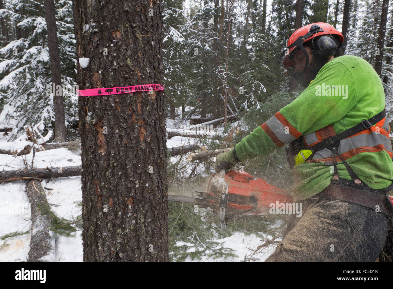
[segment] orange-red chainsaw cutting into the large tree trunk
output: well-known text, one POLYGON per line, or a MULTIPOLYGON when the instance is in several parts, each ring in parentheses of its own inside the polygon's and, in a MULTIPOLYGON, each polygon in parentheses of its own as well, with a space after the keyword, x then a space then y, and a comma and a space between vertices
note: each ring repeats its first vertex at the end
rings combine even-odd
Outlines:
MULTIPOLYGON (((389 196, 393 204, 393 196, 389 196)), ((168 195, 169 201, 197 204, 218 212, 221 229, 229 220, 244 215, 268 214, 271 204, 292 203, 288 191, 268 184, 241 170, 230 170, 210 176, 206 191, 195 191, 193 197, 168 195)))

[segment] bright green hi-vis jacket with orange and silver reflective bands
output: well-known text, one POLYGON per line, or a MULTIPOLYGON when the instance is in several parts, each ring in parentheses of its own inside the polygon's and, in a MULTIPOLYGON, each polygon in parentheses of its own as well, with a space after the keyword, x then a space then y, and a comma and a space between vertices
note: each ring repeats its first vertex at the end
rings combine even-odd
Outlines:
MULTIPOLYGON (((385 107, 382 82, 364 59, 344 55, 332 59, 292 103, 283 107, 236 145, 243 161, 272 153, 302 136, 303 144, 314 145, 367 120, 385 107)), ((393 180, 389 121, 384 118, 370 129, 340 141, 338 153, 360 180, 370 188, 387 188, 393 180)), ((292 169, 295 201, 304 200, 329 186, 333 153, 316 152, 292 169)), ((351 180, 336 156, 338 175, 351 180)))

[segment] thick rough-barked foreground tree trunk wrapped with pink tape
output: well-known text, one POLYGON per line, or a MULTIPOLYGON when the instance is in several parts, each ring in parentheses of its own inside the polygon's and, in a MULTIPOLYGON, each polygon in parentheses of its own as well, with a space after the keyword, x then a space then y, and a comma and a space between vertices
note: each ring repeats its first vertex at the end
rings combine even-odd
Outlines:
MULTIPOLYGON (((162 83, 161 1, 73 3, 81 89, 162 83)), ((79 98, 84 261, 169 260, 164 108, 162 91, 79 98)))

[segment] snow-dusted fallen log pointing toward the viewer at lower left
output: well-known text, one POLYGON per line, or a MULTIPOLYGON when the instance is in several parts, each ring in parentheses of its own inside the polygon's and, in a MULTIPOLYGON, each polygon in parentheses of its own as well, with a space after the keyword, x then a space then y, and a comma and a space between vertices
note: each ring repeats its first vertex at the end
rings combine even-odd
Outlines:
POLYGON ((45 191, 39 181, 30 180, 26 185, 26 192, 31 204, 31 241, 28 262, 55 261, 55 249, 49 234, 52 216, 46 214, 49 204, 45 191))

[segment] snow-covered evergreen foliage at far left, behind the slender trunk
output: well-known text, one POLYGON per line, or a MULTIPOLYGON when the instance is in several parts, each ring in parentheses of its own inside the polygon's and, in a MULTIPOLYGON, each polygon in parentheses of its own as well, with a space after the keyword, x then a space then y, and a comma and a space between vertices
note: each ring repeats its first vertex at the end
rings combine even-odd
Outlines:
MULTIPOLYGON (((7 29, 9 43, 0 49, 0 123, 17 127, 14 138, 23 132, 24 125, 30 124, 46 134, 46 140, 53 135, 55 115, 49 90, 51 72, 43 2, 4 2, 7 24, 13 27, 7 29)), ((66 121, 70 123, 75 118, 77 102, 72 1, 61 1, 55 9, 66 121)))

